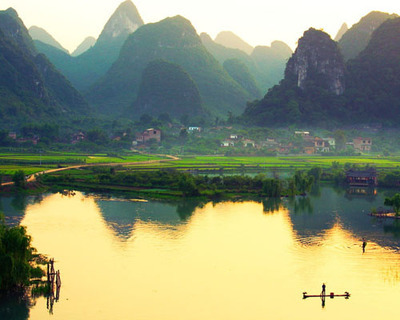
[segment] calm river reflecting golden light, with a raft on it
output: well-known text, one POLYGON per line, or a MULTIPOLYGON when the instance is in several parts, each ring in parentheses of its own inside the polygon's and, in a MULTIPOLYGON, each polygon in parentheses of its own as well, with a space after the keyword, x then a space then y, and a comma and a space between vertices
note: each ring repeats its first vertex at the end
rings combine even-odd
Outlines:
POLYGON ((52 307, 44 297, 3 301, 0 318, 394 319, 400 224, 367 214, 385 195, 322 187, 264 203, 1 198, 6 222, 26 226, 55 258, 62 287, 52 307), (351 296, 303 299, 322 283, 351 296))

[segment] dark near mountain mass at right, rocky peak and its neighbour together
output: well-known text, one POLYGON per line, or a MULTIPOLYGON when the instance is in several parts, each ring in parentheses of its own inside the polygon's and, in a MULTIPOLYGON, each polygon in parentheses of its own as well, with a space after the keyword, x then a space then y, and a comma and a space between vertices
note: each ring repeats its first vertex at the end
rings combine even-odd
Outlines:
MULTIPOLYGON (((365 23, 375 15, 373 12, 361 20, 365 23)), ((390 15, 379 13, 378 16, 390 15)), ((335 128, 384 124, 398 127, 400 17, 390 16, 378 27, 370 26, 371 29, 366 47, 347 63, 329 35, 308 30, 286 66, 284 80, 263 100, 250 103, 242 120, 262 126, 308 124, 335 128)))

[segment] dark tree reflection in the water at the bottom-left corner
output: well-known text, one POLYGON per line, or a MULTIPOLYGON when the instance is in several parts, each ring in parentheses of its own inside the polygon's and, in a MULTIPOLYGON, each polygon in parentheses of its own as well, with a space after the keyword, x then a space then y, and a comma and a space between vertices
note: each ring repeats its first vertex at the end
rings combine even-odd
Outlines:
POLYGON ((26 297, 11 296, 0 299, 0 319, 26 320, 31 303, 26 297))

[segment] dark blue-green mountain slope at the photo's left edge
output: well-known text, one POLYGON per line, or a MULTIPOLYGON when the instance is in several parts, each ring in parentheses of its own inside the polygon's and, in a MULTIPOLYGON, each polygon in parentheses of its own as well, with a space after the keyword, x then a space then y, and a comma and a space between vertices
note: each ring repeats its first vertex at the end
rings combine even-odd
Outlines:
POLYGON ((0 114, 3 127, 61 121, 89 106, 43 54, 14 9, 0 11, 0 114))

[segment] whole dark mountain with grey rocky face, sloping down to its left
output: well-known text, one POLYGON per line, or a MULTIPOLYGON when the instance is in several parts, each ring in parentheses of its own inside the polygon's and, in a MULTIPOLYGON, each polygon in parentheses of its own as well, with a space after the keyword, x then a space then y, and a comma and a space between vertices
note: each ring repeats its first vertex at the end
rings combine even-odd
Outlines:
POLYGON ((328 34, 310 28, 298 41, 285 77, 259 102, 249 104, 244 121, 256 125, 319 124, 335 120, 345 90, 345 64, 328 34))

